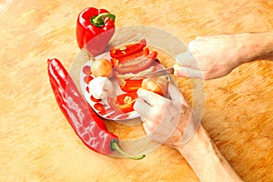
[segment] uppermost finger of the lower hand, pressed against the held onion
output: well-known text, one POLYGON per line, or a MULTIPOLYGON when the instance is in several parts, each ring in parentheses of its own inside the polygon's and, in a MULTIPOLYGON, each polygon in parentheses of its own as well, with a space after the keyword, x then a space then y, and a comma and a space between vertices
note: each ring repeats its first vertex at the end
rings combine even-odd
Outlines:
POLYGON ((159 96, 156 93, 147 91, 146 89, 143 89, 143 88, 139 88, 136 93, 137 93, 137 96, 144 99, 147 102, 147 104, 150 106, 156 106, 157 102, 160 99, 164 98, 163 96, 159 96))

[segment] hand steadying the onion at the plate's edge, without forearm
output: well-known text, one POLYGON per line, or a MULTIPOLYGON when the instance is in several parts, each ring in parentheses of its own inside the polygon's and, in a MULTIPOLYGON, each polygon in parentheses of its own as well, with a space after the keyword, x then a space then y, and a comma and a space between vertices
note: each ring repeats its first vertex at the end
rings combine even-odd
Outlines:
POLYGON ((178 149, 191 118, 191 107, 176 86, 168 85, 169 99, 139 88, 134 109, 144 121, 147 135, 158 143, 178 149))

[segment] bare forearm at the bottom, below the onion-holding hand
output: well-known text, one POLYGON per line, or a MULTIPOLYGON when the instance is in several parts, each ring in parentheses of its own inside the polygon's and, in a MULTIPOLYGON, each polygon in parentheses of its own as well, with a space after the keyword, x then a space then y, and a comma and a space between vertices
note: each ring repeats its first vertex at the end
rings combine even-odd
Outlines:
POLYGON ((178 151, 186 158, 200 181, 241 181, 203 126, 199 126, 195 136, 178 151))

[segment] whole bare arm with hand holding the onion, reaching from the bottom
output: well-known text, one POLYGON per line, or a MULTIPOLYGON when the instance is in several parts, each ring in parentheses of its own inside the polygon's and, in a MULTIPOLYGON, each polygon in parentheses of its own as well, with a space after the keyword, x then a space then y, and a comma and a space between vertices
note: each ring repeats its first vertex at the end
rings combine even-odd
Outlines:
POLYGON ((168 147, 177 149, 193 168, 200 181, 241 181, 227 160, 219 153, 203 126, 182 145, 187 123, 197 119, 184 96, 175 86, 168 86, 170 99, 144 89, 138 89, 134 106, 144 121, 150 137, 168 147))

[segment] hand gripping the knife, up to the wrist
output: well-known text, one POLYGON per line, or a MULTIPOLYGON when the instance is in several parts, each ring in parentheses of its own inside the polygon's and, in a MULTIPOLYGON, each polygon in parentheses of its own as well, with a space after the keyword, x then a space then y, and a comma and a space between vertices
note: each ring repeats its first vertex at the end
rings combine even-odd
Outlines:
POLYGON ((177 55, 175 76, 205 80, 226 76, 248 56, 244 49, 245 34, 197 36, 187 52, 177 55))

